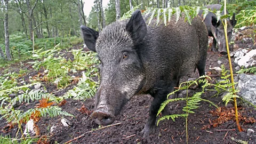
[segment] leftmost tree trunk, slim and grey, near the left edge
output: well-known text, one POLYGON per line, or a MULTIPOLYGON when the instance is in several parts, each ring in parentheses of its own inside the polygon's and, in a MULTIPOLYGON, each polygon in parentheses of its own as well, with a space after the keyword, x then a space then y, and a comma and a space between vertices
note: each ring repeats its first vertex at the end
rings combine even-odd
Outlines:
POLYGON ((8 0, 4 0, 4 33, 5 33, 5 54, 7 60, 12 60, 9 46, 9 28, 8 28, 8 0))

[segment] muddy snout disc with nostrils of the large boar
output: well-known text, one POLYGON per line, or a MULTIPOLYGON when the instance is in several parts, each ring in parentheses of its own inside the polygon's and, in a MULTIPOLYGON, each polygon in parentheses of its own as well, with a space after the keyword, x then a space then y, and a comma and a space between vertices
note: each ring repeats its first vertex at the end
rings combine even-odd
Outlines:
POLYGON ((105 113, 100 110, 96 110, 92 113, 93 120, 99 125, 109 125, 115 121, 115 116, 105 113))

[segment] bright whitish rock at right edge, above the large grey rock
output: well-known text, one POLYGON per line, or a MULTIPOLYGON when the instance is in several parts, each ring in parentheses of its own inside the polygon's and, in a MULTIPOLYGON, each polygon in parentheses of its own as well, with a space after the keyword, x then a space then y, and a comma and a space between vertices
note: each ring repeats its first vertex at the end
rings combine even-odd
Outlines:
POLYGON ((240 67, 253 67, 256 65, 256 50, 251 50, 244 57, 238 60, 238 66, 240 67))

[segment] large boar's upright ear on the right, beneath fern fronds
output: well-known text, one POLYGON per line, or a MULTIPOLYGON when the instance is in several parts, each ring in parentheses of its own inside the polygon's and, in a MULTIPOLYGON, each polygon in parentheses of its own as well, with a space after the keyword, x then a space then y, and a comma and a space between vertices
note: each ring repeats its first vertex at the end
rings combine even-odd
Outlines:
POLYGON ((147 34, 147 26, 142 18, 140 10, 136 10, 126 25, 126 30, 132 35, 135 42, 140 42, 147 34))

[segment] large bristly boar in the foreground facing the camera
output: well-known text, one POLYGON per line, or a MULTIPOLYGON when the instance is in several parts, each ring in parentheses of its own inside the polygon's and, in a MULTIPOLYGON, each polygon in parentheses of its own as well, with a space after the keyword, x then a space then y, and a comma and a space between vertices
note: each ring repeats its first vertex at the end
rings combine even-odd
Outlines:
POLYGON ((92 114, 99 125, 113 123, 133 95, 149 93, 154 100, 143 129, 147 137, 154 130, 161 103, 180 77, 196 68, 204 75, 208 37, 201 18, 191 25, 183 18, 177 23, 172 18, 167 26, 152 23, 146 26, 137 10, 129 20, 111 23, 100 33, 81 26, 85 44, 100 60, 100 86, 92 114))

